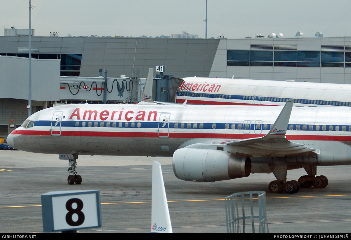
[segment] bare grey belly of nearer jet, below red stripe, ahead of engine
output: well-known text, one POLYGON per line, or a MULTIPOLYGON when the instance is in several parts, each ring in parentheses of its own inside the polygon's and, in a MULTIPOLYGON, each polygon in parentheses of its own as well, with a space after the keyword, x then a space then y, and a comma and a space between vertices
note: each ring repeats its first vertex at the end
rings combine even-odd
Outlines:
POLYGON ((148 138, 145 141, 145 138, 142 137, 80 136, 41 136, 35 138, 31 135, 22 135, 15 145, 20 145, 20 150, 23 151, 50 154, 168 157, 173 156, 179 145, 187 140, 187 138, 148 138))

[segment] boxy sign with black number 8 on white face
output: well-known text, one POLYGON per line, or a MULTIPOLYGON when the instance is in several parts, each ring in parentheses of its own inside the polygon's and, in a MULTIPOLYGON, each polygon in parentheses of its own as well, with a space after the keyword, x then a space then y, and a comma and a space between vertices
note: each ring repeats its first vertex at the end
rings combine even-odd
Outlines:
POLYGON ((100 191, 57 191, 41 195, 45 232, 101 227, 100 191))

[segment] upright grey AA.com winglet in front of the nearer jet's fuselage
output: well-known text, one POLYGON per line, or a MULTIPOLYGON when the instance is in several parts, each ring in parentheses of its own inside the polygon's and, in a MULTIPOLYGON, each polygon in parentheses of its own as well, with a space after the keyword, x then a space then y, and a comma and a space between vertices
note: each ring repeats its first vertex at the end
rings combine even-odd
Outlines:
POLYGON ((286 101, 284 108, 280 112, 276 122, 274 122, 271 130, 262 138, 283 138, 286 134, 287 125, 291 115, 292 106, 294 105, 294 99, 286 101))

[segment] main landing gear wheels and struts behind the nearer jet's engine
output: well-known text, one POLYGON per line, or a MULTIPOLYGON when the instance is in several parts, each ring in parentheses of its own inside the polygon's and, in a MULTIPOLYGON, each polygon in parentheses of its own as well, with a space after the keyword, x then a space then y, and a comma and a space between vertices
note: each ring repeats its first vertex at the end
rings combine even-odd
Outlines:
MULTIPOLYGON (((286 171, 288 169, 287 159, 283 157, 272 157, 268 166, 277 180, 270 182, 268 188, 271 193, 297 193, 300 188, 325 188, 328 185, 326 176, 317 174, 317 166, 303 166, 307 175, 301 176, 298 181, 286 181, 286 171)), ((293 169, 290 166, 289 169, 293 169)))

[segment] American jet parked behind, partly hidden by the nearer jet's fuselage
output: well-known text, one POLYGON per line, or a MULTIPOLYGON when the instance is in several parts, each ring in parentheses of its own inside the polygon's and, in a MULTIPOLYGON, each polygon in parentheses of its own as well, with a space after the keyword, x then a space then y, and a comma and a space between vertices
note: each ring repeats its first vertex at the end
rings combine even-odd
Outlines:
POLYGON ((351 106, 351 85, 186 77, 177 90, 176 103, 284 106, 290 98, 300 106, 351 106))

